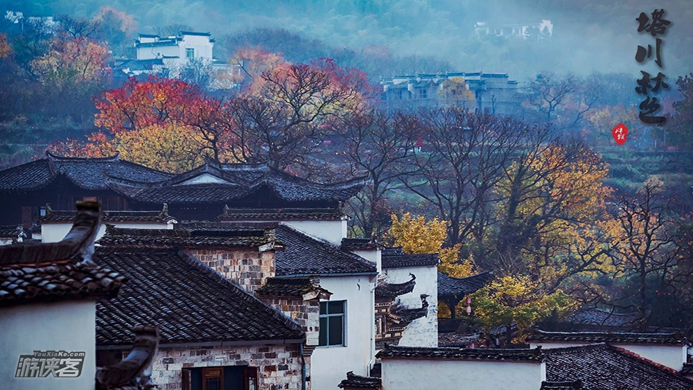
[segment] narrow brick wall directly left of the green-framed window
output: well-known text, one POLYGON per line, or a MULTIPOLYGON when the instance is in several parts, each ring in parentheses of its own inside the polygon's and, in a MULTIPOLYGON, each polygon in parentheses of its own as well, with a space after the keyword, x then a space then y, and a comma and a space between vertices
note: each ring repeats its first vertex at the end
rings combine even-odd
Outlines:
POLYGON ((306 332, 306 346, 317 346, 320 335, 320 300, 261 296, 261 300, 296 321, 306 332))

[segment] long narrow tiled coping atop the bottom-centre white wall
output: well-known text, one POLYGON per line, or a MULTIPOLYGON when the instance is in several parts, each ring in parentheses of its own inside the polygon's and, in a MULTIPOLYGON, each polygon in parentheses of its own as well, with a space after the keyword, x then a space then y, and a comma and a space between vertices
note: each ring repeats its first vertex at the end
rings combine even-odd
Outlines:
POLYGON ((541 349, 498 349, 498 348, 431 348, 417 346, 386 345, 378 352, 380 359, 424 359, 424 360, 507 360, 541 362, 541 349))

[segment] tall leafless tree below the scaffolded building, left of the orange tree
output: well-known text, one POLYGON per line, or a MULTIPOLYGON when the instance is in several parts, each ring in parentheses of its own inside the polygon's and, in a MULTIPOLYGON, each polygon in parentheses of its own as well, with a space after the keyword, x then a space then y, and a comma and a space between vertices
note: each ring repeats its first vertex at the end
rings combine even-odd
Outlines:
POLYGON ((448 221, 449 246, 466 242, 483 248, 498 202, 493 189, 525 136, 536 128, 459 107, 419 115, 423 148, 415 155, 417 175, 401 181, 448 221))

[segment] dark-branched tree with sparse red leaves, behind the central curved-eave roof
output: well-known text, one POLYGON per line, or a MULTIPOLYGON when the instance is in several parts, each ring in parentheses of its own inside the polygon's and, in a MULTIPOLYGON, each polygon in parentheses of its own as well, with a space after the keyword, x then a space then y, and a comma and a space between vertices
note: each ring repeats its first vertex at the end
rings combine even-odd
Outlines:
POLYGON ((326 134, 337 131, 337 119, 362 109, 369 97, 365 75, 331 60, 280 65, 229 103, 231 152, 238 161, 303 166, 326 134))

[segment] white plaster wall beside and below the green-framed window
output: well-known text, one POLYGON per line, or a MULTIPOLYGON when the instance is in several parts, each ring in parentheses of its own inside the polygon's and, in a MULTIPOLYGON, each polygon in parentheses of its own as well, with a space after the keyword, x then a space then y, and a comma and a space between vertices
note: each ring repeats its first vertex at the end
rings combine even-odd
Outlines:
POLYGON ((311 359, 315 390, 336 389, 347 375, 368 375, 375 355, 376 276, 322 276, 320 285, 332 292, 330 301, 347 301, 347 346, 317 347, 311 359))

